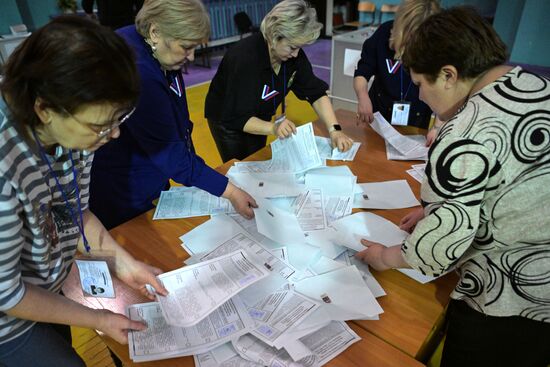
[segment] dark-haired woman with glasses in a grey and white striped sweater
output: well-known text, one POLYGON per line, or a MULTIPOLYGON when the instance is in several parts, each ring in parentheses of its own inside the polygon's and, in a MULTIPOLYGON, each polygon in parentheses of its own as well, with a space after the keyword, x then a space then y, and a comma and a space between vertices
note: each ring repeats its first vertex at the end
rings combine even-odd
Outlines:
MULTIPOLYGON (((88 208, 94 151, 118 137, 139 89, 132 52, 107 28, 59 17, 33 32, 0 84, 0 365, 84 366, 68 325, 120 343, 145 325, 65 298, 77 249, 113 256, 146 294, 155 269, 124 251, 88 208)), ((164 288, 160 288, 165 293, 164 288)))

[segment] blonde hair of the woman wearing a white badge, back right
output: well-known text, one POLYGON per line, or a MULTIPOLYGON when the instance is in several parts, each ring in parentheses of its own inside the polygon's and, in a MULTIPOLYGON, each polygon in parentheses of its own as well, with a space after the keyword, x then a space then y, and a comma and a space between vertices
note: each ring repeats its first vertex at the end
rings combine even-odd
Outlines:
POLYGON ((395 58, 401 59, 410 36, 430 15, 439 13, 439 0, 404 0, 395 13, 390 47, 395 58))

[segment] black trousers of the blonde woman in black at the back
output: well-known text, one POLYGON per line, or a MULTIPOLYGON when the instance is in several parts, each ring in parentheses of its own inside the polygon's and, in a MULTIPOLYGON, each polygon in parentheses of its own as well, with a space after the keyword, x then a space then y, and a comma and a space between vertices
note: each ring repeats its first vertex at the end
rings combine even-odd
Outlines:
POLYGON ((212 137, 225 163, 232 159, 243 160, 265 147, 267 136, 230 130, 221 121, 208 120, 212 137))

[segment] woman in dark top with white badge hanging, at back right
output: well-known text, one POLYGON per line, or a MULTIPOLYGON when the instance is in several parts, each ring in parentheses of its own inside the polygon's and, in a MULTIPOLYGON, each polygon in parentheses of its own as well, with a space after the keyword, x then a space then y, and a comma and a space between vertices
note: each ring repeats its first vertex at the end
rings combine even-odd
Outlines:
MULTIPOLYGON (((403 68, 401 57, 407 39, 424 19, 439 10, 438 0, 405 0, 397 10, 395 20, 380 25, 363 43, 353 78, 359 121, 371 123, 373 112, 378 111, 394 124, 428 127, 432 111, 419 100, 418 87, 403 68), (367 82, 372 76, 374 81, 369 90, 367 82)), ((429 132, 429 142, 435 138, 440 124, 437 121, 436 127, 429 132)))

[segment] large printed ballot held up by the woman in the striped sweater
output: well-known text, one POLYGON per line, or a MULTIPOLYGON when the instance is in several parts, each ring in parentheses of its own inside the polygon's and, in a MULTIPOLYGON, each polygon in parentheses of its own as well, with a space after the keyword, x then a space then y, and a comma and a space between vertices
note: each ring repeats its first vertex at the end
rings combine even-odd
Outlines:
POLYGON ((156 298, 168 324, 189 327, 269 274, 244 250, 234 251, 159 275, 169 294, 156 298))

